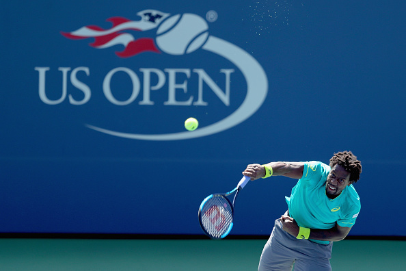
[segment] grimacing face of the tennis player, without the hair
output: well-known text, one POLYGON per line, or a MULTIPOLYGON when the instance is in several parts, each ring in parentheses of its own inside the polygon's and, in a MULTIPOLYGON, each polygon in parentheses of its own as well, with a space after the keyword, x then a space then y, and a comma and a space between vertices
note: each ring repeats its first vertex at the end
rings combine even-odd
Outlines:
POLYGON ((329 198, 336 198, 341 194, 342 190, 351 185, 349 181, 350 173, 344 170, 340 165, 333 166, 329 175, 327 176, 327 182, 325 184, 325 192, 329 198))

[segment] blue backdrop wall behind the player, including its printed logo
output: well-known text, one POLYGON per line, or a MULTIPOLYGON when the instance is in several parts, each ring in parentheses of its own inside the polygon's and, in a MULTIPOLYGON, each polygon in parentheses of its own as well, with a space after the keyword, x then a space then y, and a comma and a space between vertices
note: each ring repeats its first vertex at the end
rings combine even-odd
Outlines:
MULTIPOLYGON (((6 1, 0 232, 202 234, 200 202, 247 164, 349 150, 363 166, 350 235, 405 236, 402 10, 6 1)), ((232 234, 268 235, 295 182, 249 183, 232 234)))

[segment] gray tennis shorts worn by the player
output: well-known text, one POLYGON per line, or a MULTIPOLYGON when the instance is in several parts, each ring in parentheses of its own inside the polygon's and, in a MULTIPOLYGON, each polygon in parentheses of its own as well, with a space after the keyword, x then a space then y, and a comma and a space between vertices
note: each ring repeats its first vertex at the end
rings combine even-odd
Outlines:
POLYGON ((282 229, 282 222, 275 220, 275 227, 260 258, 258 271, 331 270, 330 261, 333 242, 317 244, 309 240, 296 239, 282 229), (293 269, 295 268, 295 269, 293 269))

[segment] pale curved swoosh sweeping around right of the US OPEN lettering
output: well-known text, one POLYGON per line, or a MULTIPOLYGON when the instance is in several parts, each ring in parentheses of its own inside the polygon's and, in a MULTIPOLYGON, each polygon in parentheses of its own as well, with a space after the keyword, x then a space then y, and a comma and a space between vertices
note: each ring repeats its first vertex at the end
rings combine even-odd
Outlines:
POLYGON ((265 74, 265 71, 262 69, 260 64, 254 59, 254 57, 252 57, 236 45, 227 42, 226 40, 221 40, 220 38, 209 36, 206 44, 204 44, 202 49, 216 53, 217 55, 220 55, 232 62, 239 68, 239 70, 241 70, 241 72, 245 76, 245 80, 247 81, 247 96, 245 96, 245 99, 240 107, 226 118, 195 131, 150 135, 111 131, 93 125, 85 126, 102 133, 118 136, 120 138, 159 141, 200 138, 202 136, 219 133, 220 131, 224 131, 236 125, 239 125, 239 123, 252 116, 252 114, 254 114, 265 101, 268 92, 267 75, 265 74))

